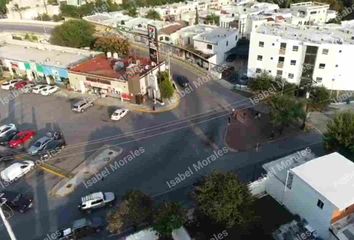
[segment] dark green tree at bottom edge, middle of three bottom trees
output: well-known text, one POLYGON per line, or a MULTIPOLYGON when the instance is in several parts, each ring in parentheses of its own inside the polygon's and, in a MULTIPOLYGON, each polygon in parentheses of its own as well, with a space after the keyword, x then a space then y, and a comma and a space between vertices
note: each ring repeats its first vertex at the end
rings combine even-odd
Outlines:
POLYGON ((187 212, 178 203, 164 203, 154 213, 152 228, 161 238, 171 237, 172 231, 187 221, 187 212))

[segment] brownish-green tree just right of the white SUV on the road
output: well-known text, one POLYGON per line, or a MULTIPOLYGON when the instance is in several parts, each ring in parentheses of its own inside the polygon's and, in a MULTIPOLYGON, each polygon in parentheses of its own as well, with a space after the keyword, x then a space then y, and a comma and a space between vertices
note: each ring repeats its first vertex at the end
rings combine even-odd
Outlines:
POLYGON ((107 229, 120 233, 127 227, 134 227, 143 222, 152 221, 153 201, 140 191, 130 191, 123 196, 118 209, 107 215, 107 229))

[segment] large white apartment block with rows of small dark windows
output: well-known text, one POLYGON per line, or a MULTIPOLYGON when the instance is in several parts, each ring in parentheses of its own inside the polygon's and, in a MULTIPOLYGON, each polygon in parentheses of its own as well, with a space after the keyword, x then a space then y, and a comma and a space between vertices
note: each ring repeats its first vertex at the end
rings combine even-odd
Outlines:
POLYGON ((249 77, 263 71, 300 84, 313 80, 331 90, 354 90, 354 30, 263 24, 251 33, 249 77))

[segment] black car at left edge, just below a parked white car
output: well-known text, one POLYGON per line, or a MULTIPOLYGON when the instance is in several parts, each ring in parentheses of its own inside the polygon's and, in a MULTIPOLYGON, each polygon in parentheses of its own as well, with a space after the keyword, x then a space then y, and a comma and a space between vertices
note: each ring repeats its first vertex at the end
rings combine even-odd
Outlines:
POLYGON ((32 207, 32 198, 25 197, 22 193, 3 191, 0 193, 1 202, 5 201, 5 204, 11 209, 24 213, 32 207))

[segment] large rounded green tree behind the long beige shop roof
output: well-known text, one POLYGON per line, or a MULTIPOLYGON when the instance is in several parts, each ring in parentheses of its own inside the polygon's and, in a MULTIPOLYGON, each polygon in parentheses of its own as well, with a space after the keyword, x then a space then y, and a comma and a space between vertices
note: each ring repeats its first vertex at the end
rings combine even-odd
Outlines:
POLYGON ((90 47, 95 38, 95 27, 84 20, 69 20, 53 29, 50 42, 66 47, 90 47))

